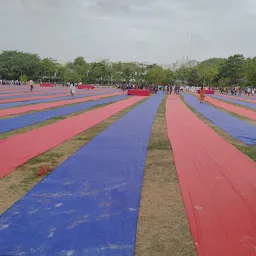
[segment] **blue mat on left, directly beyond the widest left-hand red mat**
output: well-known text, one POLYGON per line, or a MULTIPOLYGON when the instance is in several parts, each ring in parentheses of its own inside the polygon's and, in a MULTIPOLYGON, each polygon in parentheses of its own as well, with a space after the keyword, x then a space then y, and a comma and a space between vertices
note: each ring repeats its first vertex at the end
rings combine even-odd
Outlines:
POLYGON ((0 120, 0 134, 11 130, 20 129, 32 124, 40 123, 51 118, 66 116, 75 112, 86 110, 94 106, 111 103, 126 98, 127 95, 119 95, 108 99, 99 99, 91 102, 82 102, 72 106, 65 106, 57 109, 49 109, 38 113, 17 116, 13 118, 0 120))

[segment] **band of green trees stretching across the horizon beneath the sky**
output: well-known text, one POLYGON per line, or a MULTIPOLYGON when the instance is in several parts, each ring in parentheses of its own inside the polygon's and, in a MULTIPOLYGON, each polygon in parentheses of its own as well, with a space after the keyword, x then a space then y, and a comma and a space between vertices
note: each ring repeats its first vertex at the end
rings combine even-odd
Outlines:
POLYGON ((0 54, 0 79, 47 82, 82 82, 84 84, 182 84, 189 86, 254 86, 256 58, 235 54, 228 58, 211 58, 196 67, 181 66, 175 72, 153 64, 135 62, 88 63, 83 57, 61 64, 37 54, 3 51, 0 54))

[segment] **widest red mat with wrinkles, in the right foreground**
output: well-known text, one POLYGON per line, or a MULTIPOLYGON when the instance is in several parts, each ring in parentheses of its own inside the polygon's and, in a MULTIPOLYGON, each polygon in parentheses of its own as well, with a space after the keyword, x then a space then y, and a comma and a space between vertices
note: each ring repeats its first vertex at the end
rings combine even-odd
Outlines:
POLYGON ((168 136, 198 255, 256 255, 256 164, 177 96, 169 96, 166 107, 168 136))

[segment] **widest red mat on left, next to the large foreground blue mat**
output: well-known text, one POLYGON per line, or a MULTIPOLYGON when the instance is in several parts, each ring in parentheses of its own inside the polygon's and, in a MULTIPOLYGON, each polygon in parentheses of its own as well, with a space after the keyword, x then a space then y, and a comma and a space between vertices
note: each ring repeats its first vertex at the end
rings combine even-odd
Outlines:
POLYGON ((143 97, 132 97, 0 141, 0 178, 29 159, 56 147, 142 99, 143 97))

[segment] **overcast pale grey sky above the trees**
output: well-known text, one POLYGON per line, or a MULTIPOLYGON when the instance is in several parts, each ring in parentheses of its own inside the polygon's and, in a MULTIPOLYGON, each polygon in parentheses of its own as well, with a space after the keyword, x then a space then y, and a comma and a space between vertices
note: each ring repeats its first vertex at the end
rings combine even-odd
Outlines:
POLYGON ((0 0, 0 50, 60 61, 256 55, 255 0, 0 0))

